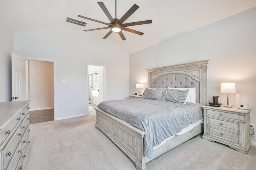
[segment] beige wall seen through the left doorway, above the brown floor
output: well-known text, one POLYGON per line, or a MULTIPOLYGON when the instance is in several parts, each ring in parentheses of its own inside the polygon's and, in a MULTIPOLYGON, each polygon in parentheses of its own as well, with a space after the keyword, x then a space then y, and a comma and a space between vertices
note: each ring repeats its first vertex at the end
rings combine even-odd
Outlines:
POLYGON ((54 107, 53 62, 28 61, 28 99, 30 110, 54 107))

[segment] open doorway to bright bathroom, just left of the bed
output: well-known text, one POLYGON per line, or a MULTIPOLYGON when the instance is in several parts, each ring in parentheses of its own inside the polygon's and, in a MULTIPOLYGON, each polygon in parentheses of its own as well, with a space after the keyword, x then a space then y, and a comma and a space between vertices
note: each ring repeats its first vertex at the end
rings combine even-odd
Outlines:
POLYGON ((88 113, 95 114, 97 107, 105 98, 105 66, 88 64, 88 113))

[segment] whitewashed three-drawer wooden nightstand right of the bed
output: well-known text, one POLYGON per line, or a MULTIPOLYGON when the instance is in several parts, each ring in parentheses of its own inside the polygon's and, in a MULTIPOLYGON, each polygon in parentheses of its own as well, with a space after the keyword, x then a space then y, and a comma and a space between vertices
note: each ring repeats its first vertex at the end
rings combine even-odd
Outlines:
POLYGON ((203 139, 228 145, 238 152, 247 154, 251 149, 250 111, 252 109, 202 107, 204 109, 203 139))

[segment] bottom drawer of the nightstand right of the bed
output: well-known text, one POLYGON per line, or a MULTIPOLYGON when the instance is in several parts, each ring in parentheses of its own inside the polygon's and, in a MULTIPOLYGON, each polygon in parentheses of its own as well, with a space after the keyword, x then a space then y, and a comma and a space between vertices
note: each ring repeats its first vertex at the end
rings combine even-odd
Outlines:
POLYGON ((230 141, 233 143, 238 143, 238 144, 240 143, 240 140, 239 140, 240 135, 239 134, 229 133, 229 132, 215 129, 212 127, 208 127, 208 134, 222 138, 223 140, 230 141))

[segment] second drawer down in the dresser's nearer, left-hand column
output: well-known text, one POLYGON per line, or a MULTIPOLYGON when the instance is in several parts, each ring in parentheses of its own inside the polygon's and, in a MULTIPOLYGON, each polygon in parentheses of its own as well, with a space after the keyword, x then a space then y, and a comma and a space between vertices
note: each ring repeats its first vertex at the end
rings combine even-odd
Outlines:
POLYGON ((14 149, 16 149, 16 146, 18 143, 20 143, 20 128, 17 128, 17 130, 14 132, 10 140, 8 141, 8 144, 3 149, 3 164, 6 166, 10 159, 15 154, 14 149))

